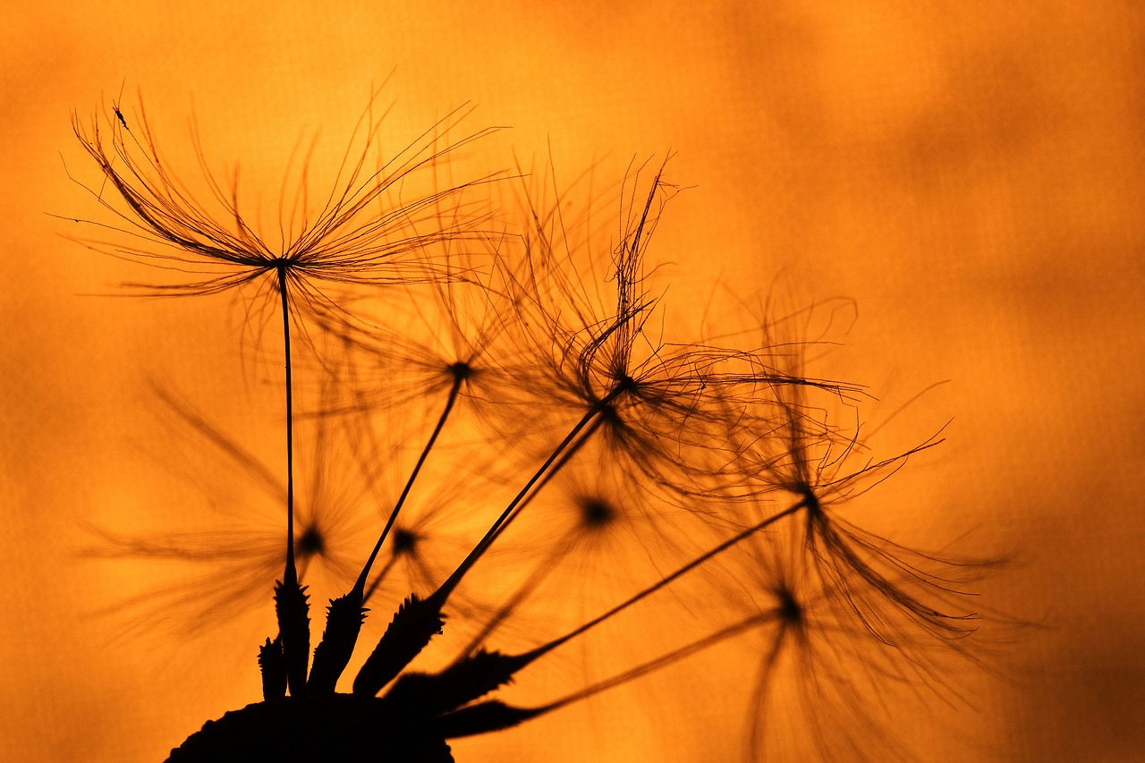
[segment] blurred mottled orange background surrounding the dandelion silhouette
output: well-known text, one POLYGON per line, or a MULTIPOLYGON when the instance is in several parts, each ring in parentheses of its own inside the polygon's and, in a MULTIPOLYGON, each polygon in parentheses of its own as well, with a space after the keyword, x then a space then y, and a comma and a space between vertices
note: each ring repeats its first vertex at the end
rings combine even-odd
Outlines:
MULTIPOLYGON (((990 671, 949 705, 893 705, 895 727, 927 761, 1140 760, 1134 3, 16 0, 6 16, 0 758, 157 761, 258 699, 253 655, 226 648, 226 632, 190 638, 177 613, 141 626, 131 607, 109 612, 145 587, 136 567, 87 559, 92 527, 182 527, 200 500, 155 463, 152 383, 236 432, 266 419, 248 404, 262 377, 245 372, 228 302, 94 296, 133 270, 49 217, 94 214, 69 180, 94 178, 70 113, 136 108, 141 92, 188 175, 194 113, 212 168, 228 178, 240 159, 242 188, 273 213, 291 147, 319 133, 337 159, 388 78, 395 145, 464 104, 474 128, 508 127, 458 157, 477 174, 551 160, 568 179, 595 163, 615 180, 632 157, 671 151, 669 176, 688 190, 654 252, 678 308, 698 312, 728 284, 856 300, 830 373, 869 386, 899 445, 953 418, 941 449, 889 485, 875 529, 1010 554, 980 587, 984 606, 1035 623, 997 635, 990 671)), ((633 684, 455 752, 741 753, 742 718, 712 710, 724 689, 686 685, 673 698, 684 683, 633 684)))

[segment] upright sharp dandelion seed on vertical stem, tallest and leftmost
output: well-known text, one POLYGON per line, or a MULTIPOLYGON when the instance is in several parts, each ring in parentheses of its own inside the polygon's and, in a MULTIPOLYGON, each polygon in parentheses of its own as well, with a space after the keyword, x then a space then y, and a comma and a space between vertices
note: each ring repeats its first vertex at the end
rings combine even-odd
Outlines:
MULTIPOLYGON (((118 105, 114 107, 114 113, 126 127, 118 105)), ((363 119, 368 113, 369 110, 363 113, 363 119)), ((456 126, 456 117, 457 113, 451 115, 436 128, 448 131, 456 126)), ((215 199, 227 213, 229 228, 215 222, 206 210, 182 190, 181 183, 159 156, 145 116, 142 120, 142 139, 133 139, 131 142, 125 140, 112 123, 110 151, 103 143, 98 121, 93 123, 89 135, 74 116, 72 124, 84 148, 127 205, 126 213, 118 213, 120 219, 144 244, 161 247, 161 251, 119 247, 117 253, 165 268, 222 270, 221 275, 187 283, 153 285, 145 288, 147 291, 208 294, 247 284, 264 289, 269 281, 270 288, 281 298, 285 355, 287 519, 286 561, 276 591, 276 601, 290 686, 292 692, 298 693, 306 683, 309 621, 308 605, 299 583, 294 558, 292 317, 299 305, 322 306, 326 312, 337 309, 337 304, 316 285, 318 282, 384 285, 431 277, 432 267, 419 261, 417 255, 429 244, 465 233, 468 223, 455 222, 458 227, 439 225, 427 234, 418 234, 417 225, 424 223, 427 217, 437 220, 439 205, 445 199, 458 197, 463 187, 400 204, 385 210, 380 215, 373 210, 374 203, 384 194, 395 189, 411 172, 439 160, 444 152, 476 140, 487 131, 450 145, 444 152, 436 150, 433 141, 413 143, 376 172, 364 170, 365 152, 348 166, 344 159, 338 173, 340 182, 335 183, 313 223, 303 219, 294 235, 293 220, 281 221, 281 229, 290 230, 291 238, 284 239, 281 251, 276 252, 243 219, 237 202, 237 184, 231 187, 229 195, 224 195, 219 183, 210 174, 205 175, 215 199), (117 168, 112 157, 119 160, 123 170, 117 168)), ((379 127, 377 123, 368 127, 366 151, 379 127)), ((100 200, 103 203, 102 197, 100 200)), ((113 210, 110 204, 103 204, 113 210)), ((355 588, 358 596, 361 588, 355 588)))

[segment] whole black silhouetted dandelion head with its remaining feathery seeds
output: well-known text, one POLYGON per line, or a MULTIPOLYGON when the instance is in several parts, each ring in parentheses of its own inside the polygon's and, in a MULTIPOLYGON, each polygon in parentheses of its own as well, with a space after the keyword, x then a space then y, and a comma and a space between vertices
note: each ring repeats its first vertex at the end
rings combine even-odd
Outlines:
POLYGON ((274 310, 282 327, 285 481, 226 427, 159 394, 171 428, 258 483, 284 527, 245 527, 232 512, 210 536, 103 534, 111 556, 226 571, 180 593, 206 626, 226 612, 204 601, 253 606, 279 576, 277 632, 256 654, 262 701, 208 722, 169 760, 451 761, 449 739, 496 733, 752 634, 750 756, 796 732, 824 758, 893 753, 863 695, 883 681, 941 690, 949 675, 937 655, 972 660, 965 584, 982 567, 905 549, 843 509, 938 435, 868 454, 830 414, 858 410, 867 393, 810 376, 812 343, 780 339, 775 316, 734 341, 673 337, 647 265, 674 194, 664 165, 630 167, 615 235, 599 226, 600 196, 577 209, 577 183, 548 175, 502 181, 521 192, 499 213, 473 202, 497 175, 406 199, 416 173, 489 131, 449 140, 455 112, 371 166, 381 121, 370 113, 354 133, 361 152, 352 140, 316 211, 307 164, 292 199, 284 187, 278 241, 247 222, 237 188, 205 163, 214 199, 200 204, 142 107, 131 123, 118 107, 86 127, 74 120, 103 175, 86 187, 116 215, 82 221, 111 236, 87 245, 171 275, 129 284, 140 293, 234 290, 248 314, 274 310), (283 529, 285 543, 274 537, 283 529), (498 554, 514 572, 466 585, 498 554), (303 583, 319 575, 345 592, 311 655, 303 583), (705 632, 671 643, 634 616, 668 591, 712 611, 705 632), (396 611, 340 693, 368 601, 396 611), (527 666, 614 622, 648 631, 656 651, 634 650, 625 670, 544 705, 498 698, 527 666), (444 628, 465 634, 444 667, 413 669, 444 628), (777 697, 783 670, 798 674, 784 684, 795 693, 777 697))

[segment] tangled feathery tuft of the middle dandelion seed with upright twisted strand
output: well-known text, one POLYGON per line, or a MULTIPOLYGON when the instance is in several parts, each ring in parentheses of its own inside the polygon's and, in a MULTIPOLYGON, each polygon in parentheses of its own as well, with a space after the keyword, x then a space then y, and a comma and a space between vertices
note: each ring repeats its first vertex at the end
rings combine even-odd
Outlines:
POLYGON ((555 211, 535 215, 538 229, 526 238, 534 263, 514 283, 519 327, 528 327, 519 341, 543 373, 531 404, 590 416, 582 439, 599 432, 643 478, 695 494, 696 483, 706 489, 729 459, 728 427, 757 387, 850 387, 783 373, 752 351, 670 343, 654 333, 660 299, 647 290, 643 260, 672 194, 663 174, 661 166, 638 196, 640 173, 632 172, 622 236, 613 246, 611 301, 578 278, 583 260, 600 246, 571 239, 555 211))

